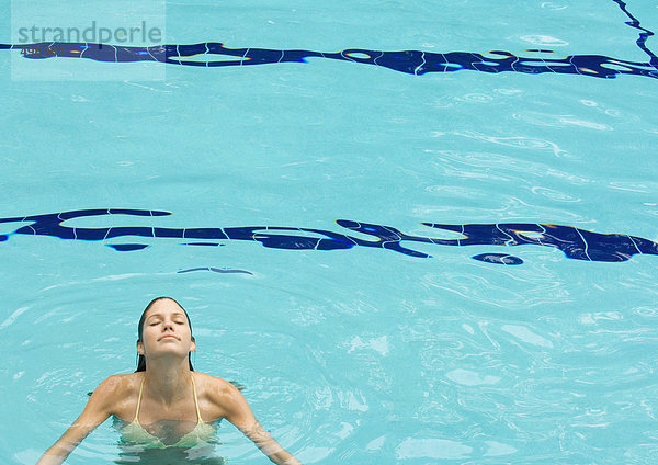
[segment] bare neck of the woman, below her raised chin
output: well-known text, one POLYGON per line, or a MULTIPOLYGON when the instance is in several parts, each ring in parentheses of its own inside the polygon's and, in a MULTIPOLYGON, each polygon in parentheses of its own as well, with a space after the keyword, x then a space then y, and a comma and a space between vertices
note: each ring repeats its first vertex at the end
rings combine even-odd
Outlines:
POLYGON ((191 377, 188 358, 180 363, 172 363, 171 360, 149 360, 144 384, 149 397, 168 405, 188 397, 188 389, 192 388, 191 377))

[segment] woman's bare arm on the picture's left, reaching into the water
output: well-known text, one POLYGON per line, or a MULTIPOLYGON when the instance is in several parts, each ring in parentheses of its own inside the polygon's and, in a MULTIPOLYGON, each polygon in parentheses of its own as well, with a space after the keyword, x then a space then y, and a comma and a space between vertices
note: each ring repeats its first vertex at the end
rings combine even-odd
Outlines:
POLYGON ((110 417, 120 381, 110 376, 93 392, 84 410, 73 424, 48 449, 36 465, 59 465, 99 424, 110 417))

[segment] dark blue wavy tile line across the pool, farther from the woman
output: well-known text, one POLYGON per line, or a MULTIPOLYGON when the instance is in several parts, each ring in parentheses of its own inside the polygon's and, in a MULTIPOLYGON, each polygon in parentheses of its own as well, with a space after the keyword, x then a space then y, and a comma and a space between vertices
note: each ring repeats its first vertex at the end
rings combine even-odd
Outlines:
POLYGON ((603 55, 571 55, 552 58, 552 50, 532 49, 538 57, 517 56, 510 52, 480 53, 447 52, 443 54, 422 50, 372 50, 349 48, 336 53, 314 50, 280 50, 268 48, 228 48, 223 43, 204 42, 191 45, 159 45, 152 47, 116 46, 110 44, 41 42, 34 44, 0 44, 0 49, 20 49, 25 58, 87 58, 97 61, 132 63, 159 61, 170 65, 205 68, 248 66, 281 63, 306 63, 308 58, 327 58, 376 65, 409 75, 473 70, 489 73, 503 71, 558 75, 581 75, 614 78, 616 75, 635 75, 658 78, 651 63, 628 61, 603 55), (191 59, 194 58, 195 59, 191 59), (198 60, 198 58, 204 58, 198 60), (224 59, 223 59, 224 57, 224 59), (230 59, 226 59, 230 57, 230 59))

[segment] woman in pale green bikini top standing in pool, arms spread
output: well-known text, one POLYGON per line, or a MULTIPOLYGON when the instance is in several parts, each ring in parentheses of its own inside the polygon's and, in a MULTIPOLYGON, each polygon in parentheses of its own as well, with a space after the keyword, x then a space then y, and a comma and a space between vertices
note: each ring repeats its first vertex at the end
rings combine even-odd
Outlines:
POLYGON ((275 464, 300 465, 260 426, 232 384, 193 371, 190 317, 174 299, 150 302, 141 314, 138 334, 137 371, 102 382, 80 417, 37 465, 61 464, 110 416, 124 423, 122 443, 147 452, 203 446, 214 436, 211 423, 226 418, 275 464))

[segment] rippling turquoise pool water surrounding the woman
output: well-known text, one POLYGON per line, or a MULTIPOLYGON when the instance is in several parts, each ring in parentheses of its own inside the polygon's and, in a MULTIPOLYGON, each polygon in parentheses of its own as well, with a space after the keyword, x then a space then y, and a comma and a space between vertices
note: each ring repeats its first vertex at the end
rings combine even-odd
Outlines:
MULTIPOLYGON (((98 18, 84 4, 70 21, 98 18)), ((0 43, 16 43, 23 14, 43 13, 19 7, 5 5, 0 43)), ((658 29, 655 5, 626 7, 658 29)), ((599 259, 620 256, 595 254, 587 232, 658 241, 658 88, 646 52, 658 46, 648 37, 643 50, 626 21, 614 1, 166 5, 167 44, 491 60, 504 50, 536 67, 597 55, 603 69, 644 70, 608 79, 1 49, 0 217, 18 218, 0 223, 1 462, 34 463, 89 390, 133 371, 141 309, 171 295, 191 314, 195 367, 243 384, 261 423, 304 464, 654 463, 658 258, 649 248, 599 259), (19 232, 35 222, 24 217, 88 208, 105 214, 71 214, 70 238, 57 220, 19 232), (337 220, 436 240, 355 245, 382 230, 337 220), (421 223, 561 225, 589 247, 547 235, 549 247, 512 247, 487 234, 467 245, 421 223), (327 234, 354 240, 305 246, 327 234), (213 246, 188 245, 200 242, 213 246), (125 245, 137 246, 107 247, 125 245), (492 253, 522 263, 473 259, 492 253)), ((218 439, 229 464, 268 463, 227 422, 218 439)), ((117 440, 109 421, 67 463, 111 463, 117 440)))

